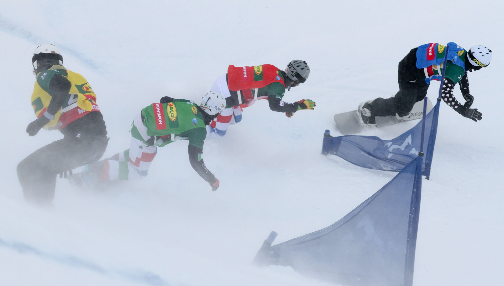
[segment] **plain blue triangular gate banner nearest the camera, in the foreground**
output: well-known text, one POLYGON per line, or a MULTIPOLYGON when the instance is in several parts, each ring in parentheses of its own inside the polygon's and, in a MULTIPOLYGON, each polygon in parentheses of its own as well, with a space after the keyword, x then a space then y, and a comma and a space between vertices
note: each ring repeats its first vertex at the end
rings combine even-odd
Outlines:
MULTIPOLYGON (((382 189, 333 225, 270 246, 255 263, 351 286, 411 286, 421 196, 417 157, 382 189)), ((276 233, 272 233, 276 235, 276 233)), ((274 239, 274 236, 273 236, 274 239)))

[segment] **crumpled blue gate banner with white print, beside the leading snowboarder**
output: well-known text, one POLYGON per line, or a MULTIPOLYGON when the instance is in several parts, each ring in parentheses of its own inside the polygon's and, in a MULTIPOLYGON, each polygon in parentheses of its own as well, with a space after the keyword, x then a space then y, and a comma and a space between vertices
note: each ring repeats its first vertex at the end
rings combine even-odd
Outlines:
MULTIPOLYGON (((422 175, 429 177, 432 154, 437 132, 439 100, 425 117, 424 147, 426 147, 422 164, 422 175)), ((423 119, 422 119, 423 120, 423 119)), ((400 171, 418 156, 422 135, 422 120, 413 128, 391 140, 376 136, 344 135, 324 136, 322 154, 333 154, 360 167, 400 171)))

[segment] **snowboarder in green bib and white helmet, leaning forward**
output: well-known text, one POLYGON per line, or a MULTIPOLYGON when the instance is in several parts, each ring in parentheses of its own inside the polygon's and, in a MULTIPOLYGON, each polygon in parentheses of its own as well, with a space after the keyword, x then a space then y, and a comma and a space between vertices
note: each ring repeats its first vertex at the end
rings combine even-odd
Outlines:
POLYGON ((96 184, 96 181, 140 180, 156 156, 157 148, 178 140, 188 140, 189 162, 193 169, 215 191, 219 180, 207 169, 202 159, 206 125, 226 107, 218 93, 207 93, 200 105, 184 99, 163 97, 137 115, 131 128, 130 149, 111 158, 86 166, 82 173, 70 177, 73 185, 96 184))

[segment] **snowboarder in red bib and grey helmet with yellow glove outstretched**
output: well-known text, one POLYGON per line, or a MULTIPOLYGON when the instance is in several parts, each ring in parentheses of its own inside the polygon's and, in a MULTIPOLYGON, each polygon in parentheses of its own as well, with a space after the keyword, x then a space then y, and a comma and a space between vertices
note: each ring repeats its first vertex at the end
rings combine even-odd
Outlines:
POLYGON ((298 59, 289 62, 285 72, 271 64, 229 65, 227 74, 217 79, 211 89, 226 98, 226 109, 207 126, 207 137, 224 136, 229 124, 241 121, 243 108, 258 99, 267 99, 271 110, 285 112, 287 117, 298 110, 313 109, 315 103, 309 99, 294 103, 282 100, 285 89, 304 83, 309 73, 308 64, 298 59))

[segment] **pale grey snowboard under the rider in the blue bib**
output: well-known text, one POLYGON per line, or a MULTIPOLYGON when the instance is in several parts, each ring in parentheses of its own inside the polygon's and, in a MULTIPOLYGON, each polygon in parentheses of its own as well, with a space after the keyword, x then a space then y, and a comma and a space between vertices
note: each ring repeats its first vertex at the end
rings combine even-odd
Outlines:
MULTIPOLYGON (((427 113, 431 109, 432 109, 432 102, 430 102, 430 99, 427 98, 427 113)), ((423 100, 415 103, 410 114, 411 118, 409 120, 422 118, 423 100)), ((396 116, 376 116, 375 119, 376 119, 376 127, 378 128, 403 122, 398 120, 396 116)), ((335 114, 334 122, 336 123, 336 126, 343 135, 356 134, 364 130, 364 128, 367 128, 360 124, 359 116, 357 115, 357 110, 335 114)))

